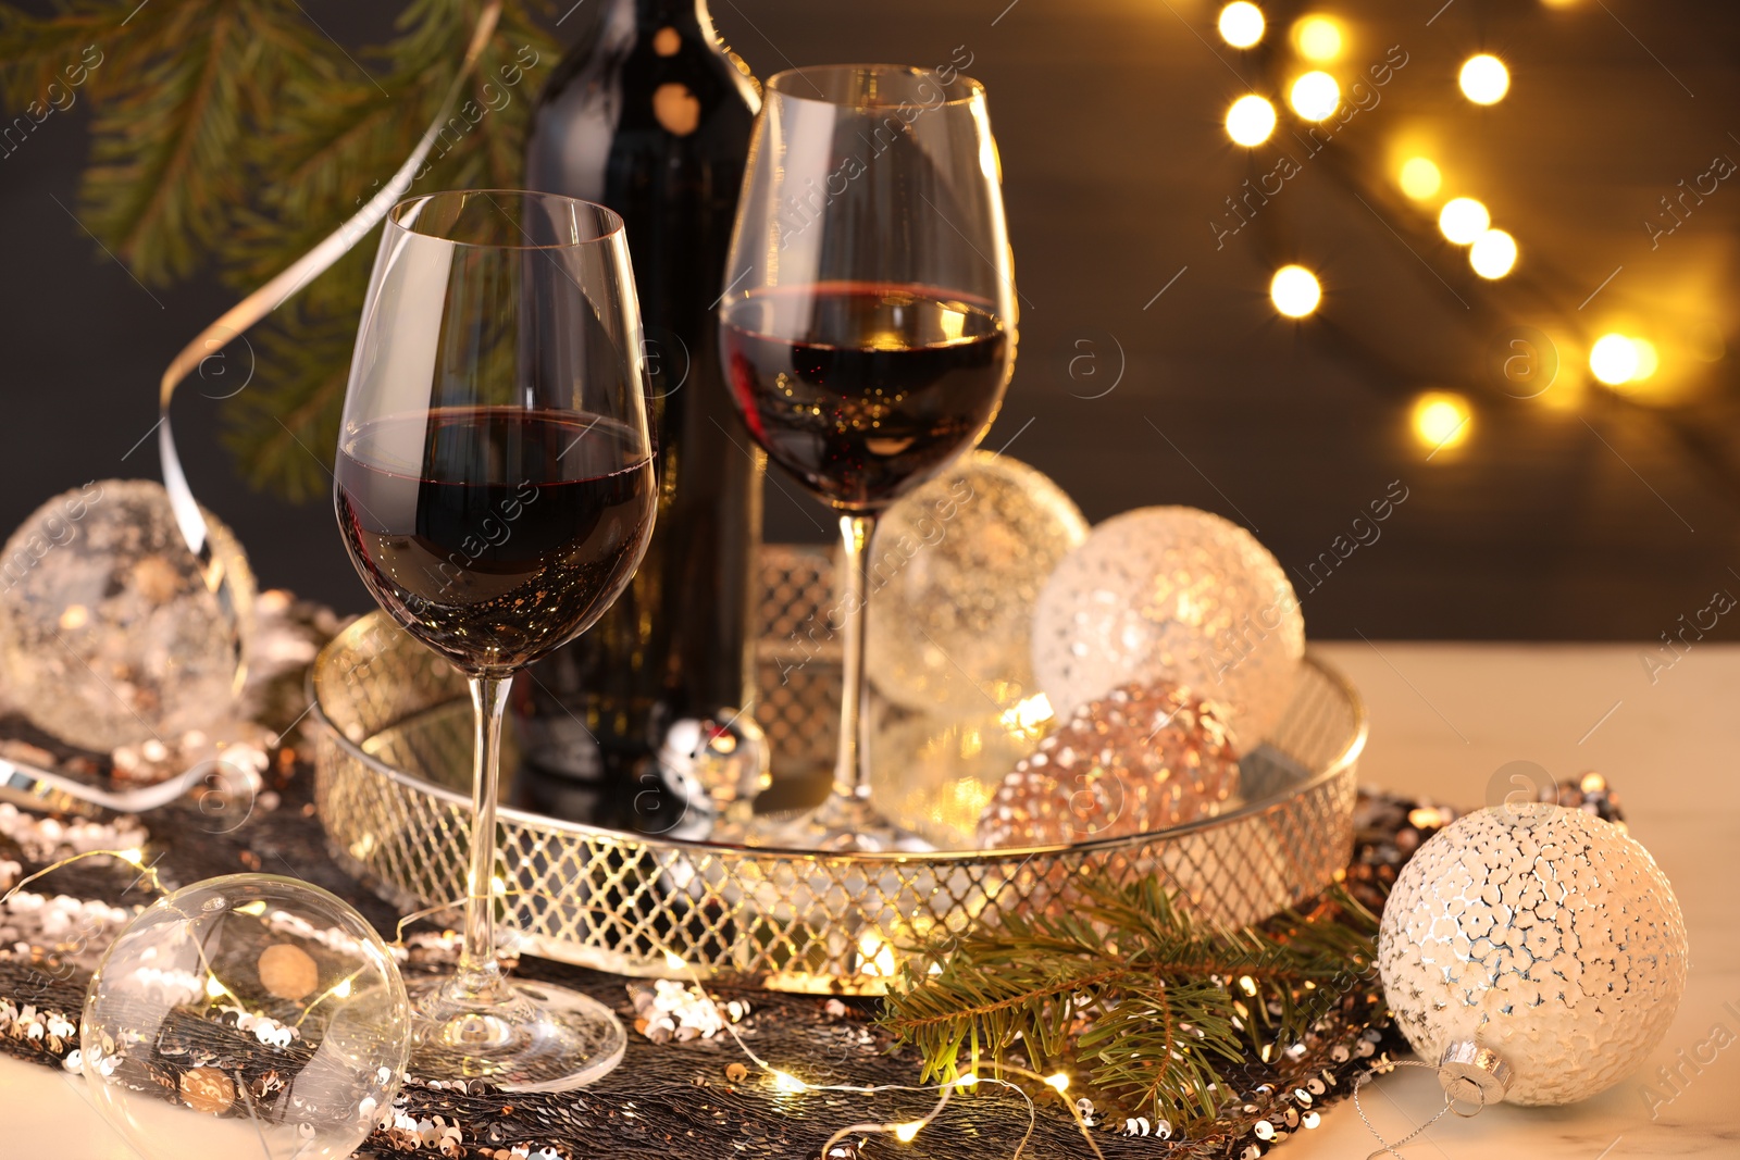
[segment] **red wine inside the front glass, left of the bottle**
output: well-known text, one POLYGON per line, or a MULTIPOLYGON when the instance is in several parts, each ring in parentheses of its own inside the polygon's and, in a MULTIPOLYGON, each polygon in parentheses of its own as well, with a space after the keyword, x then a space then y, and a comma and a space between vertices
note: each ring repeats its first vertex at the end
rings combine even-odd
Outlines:
POLYGON ((336 464, 339 529, 376 602, 472 673, 572 640, 652 527, 644 437, 571 410, 440 407, 374 419, 336 464))

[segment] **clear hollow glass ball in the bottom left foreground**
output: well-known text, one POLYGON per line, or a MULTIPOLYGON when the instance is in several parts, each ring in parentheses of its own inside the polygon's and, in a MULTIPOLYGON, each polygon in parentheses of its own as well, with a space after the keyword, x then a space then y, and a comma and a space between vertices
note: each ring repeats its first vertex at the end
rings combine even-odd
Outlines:
POLYGON ((78 1066, 146 1160, 351 1155, 411 1052, 381 936, 343 899, 275 875, 164 896, 90 979, 78 1066))

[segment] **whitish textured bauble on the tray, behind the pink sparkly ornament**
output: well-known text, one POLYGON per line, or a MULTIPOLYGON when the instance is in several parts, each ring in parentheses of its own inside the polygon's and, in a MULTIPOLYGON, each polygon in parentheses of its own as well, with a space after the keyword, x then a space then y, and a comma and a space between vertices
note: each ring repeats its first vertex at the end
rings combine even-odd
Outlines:
POLYGON ((1281 720, 1305 619, 1281 563, 1237 523, 1138 508, 1065 557, 1034 614, 1034 673, 1060 718, 1129 682, 1169 680, 1225 704, 1239 753, 1281 720))

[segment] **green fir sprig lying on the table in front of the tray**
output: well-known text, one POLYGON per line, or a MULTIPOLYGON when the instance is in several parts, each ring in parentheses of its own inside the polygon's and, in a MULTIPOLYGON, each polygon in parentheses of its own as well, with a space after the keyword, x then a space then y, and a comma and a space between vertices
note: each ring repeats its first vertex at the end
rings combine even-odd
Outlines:
POLYGON ((1124 1115, 1215 1113, 1221 1066, 1300 1042, 1373 962, 1376 918, 1336 889, 1244 930, 1194 923, 1154 878, 1089 882, 1061 913, 1002 915, 917 962, 884 1023, 924 1078, 1021 1052, 1124 1115), (962 1056, 966 1056, 962 1059, 962 1056))

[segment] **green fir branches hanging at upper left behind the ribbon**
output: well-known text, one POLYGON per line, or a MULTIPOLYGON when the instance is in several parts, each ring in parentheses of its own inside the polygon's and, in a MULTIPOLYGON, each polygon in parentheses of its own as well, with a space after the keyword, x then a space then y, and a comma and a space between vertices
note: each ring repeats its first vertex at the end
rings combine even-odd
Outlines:
MULTIPOLYGON (((92 106, 87 224, 148 283, 216 261, 261 285, 348 219, 409 157, 485 0, 411 0, 395 37, 346 56, 294 0, 64 0, 0 5, 0 96, 28 110, 80 78, 92 106), (355 57, 355 59, 351 59, 355 57), (358 75, 358 63, 367 75, 358 75), (84 61, 89 64, 89 61, 84 61)), ((531 110, 560 50, 546 0, 510 0, 412 191, 519 186, 531 110)), ((362 238, 256 334, 254 379, 224 442, 244 477, 291 497, 329 487, 350 346, 376 242, 362 238)))

